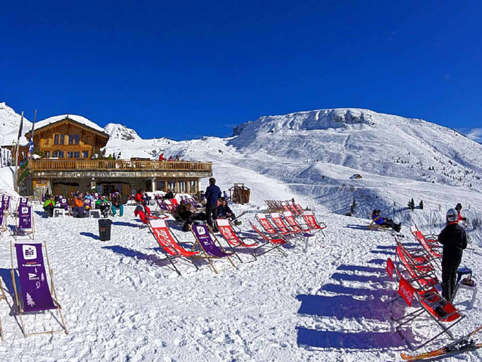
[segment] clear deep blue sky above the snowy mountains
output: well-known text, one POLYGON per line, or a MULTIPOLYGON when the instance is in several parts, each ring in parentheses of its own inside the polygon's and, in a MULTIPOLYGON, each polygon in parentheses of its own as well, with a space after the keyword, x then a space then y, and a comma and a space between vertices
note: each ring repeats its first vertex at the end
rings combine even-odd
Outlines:
POLYGON ((3 4, 0 101, 143 138, 339 107, 481 125, 480 0, 100 3, 3 4))

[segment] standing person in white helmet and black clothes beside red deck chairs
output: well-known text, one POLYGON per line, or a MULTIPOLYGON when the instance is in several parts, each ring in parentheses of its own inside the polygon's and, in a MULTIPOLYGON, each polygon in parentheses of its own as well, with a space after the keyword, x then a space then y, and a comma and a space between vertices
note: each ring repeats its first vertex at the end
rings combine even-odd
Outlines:
POLYGON ((446 214, 447 225, 439 234, 442 251, 442 297, 451 301, 455 290, 457 268, 462 261, 462 252, 467 248, 467 235, 458 224, 458 213, 449 209, 446 214))

